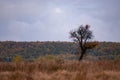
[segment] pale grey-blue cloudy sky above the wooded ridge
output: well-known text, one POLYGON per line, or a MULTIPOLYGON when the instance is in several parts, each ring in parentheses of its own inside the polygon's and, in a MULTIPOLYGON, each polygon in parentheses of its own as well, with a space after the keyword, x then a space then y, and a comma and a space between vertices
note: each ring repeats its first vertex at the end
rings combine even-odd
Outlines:
POLYGON ((98 41, 120 41, 120 0, 0 0, 0 40, 71 41, 91 25, 98 41))

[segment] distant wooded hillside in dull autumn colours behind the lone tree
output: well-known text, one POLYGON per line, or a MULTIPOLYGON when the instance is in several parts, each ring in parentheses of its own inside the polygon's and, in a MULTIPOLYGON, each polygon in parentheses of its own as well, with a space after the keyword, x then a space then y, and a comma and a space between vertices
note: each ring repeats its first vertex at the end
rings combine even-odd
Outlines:
MULTIPOLYGON (((77 54, 77 44, 73 42, 0 42, 0 61, 11 61, 16 55, 24 59, 33 59, 46 54, 77 54)), ((92 56, 117 56, 120 54, 120 43, 100 42, 87 52, 92 56)))

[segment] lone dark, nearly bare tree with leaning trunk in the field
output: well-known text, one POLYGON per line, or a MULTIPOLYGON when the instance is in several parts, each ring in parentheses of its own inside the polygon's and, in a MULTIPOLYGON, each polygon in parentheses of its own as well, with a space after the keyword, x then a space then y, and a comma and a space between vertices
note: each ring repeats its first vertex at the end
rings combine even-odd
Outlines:
POLYGON ((92 49, 98 45, 98 42, 91 41, 93 39, 93 34, 89 25, 81 25, 78 29, 70 31, 70 37, 78 44, 78 49, 81 50, 79 61, 83 59, 88 49, 92 49))

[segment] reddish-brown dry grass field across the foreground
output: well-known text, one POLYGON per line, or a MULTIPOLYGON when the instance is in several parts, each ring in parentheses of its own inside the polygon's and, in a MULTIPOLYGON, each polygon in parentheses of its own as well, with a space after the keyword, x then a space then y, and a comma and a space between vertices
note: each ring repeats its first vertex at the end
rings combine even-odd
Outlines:
POLYGON ((0 80, 120 80, 120 61, 1 62, 0 80))

